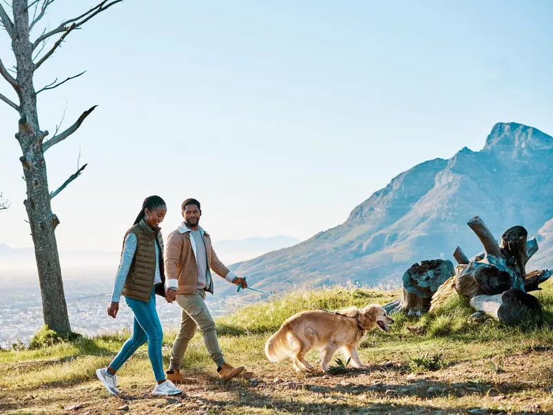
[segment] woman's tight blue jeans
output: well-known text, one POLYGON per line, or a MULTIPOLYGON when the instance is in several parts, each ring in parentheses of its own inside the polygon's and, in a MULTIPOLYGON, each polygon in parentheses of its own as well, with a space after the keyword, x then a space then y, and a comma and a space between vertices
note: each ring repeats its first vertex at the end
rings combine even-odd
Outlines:
POLYGON ((156 311, 155 288, 151 291, 150 302, 127 297, 125 297, 125 300, 134 313, 133 335, 129 340, 126 340, 118 355, 109 365, 113 369, 119 370, 123 363, 133 356, 136 349, 148 342, 148 356, 150 357, 153 375, 156 376, 156 380, 164 380, 165 373, 163 372, 161 356, 163 330, 158 311, 156 311))

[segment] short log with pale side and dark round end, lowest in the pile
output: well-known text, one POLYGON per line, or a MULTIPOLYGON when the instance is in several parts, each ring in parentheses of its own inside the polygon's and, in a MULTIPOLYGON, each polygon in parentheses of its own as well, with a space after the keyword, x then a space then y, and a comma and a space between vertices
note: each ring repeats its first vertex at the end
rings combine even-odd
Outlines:
POLYGON ((505 324, 542 320, 538 299, 516 288, 496 295, 476 295, 471 306, 505 324))

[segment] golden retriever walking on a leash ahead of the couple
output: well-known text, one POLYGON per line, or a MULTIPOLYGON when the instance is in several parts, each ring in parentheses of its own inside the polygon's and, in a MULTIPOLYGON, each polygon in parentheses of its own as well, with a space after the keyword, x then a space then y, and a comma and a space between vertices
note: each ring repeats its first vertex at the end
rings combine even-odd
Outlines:
POLYGON ((306 353, 318 349, 321 353, 321 368, 328 371, 328 363, 334 353, 341 349, 346 360, 351 358, 352 366, 362 368, 357 346, 365 333, 374 327, 390 331, 388 324, 393 320, 386 315, 384 308, 370 304, 364 308, 346 308, 328 313, 326 311, 303 311, 292 315, 283 322, 265 344, 265 356, 271 362, 283 358, 292 359, 297 371, 312 371, 306 360, 306 353))

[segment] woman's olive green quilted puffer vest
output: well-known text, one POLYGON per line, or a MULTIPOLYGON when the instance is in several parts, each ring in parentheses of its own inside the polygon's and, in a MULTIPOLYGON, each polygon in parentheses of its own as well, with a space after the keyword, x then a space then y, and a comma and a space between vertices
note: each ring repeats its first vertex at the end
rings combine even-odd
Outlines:
POLYGON ((156 243, 160 250, 160 275, 161 284, 156 286, 156 294, 165 296, 165 273, 163 272, 163 249, 158 241, 158 232, 150 229, 144 221, 137 223, 126 231, 125 237, 133 232, 136 236, 136 252, 126 276, 122 295, 129 298, 150 301, 153 279, 156 276, 156 243))

